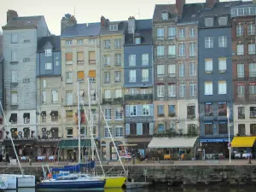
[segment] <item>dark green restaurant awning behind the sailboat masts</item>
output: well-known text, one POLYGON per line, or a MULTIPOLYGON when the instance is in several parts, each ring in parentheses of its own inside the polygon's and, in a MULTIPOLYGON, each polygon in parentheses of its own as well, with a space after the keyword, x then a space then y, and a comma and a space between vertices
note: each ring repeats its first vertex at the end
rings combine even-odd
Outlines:
MULTIPOLYGON (((90 147, 91 140, 90 139, 81 139, 81 148, 90 147)), ((78 148, 79 147, 79 139, 65 139, 61 140, 58 144, 58 148, 78 148)))

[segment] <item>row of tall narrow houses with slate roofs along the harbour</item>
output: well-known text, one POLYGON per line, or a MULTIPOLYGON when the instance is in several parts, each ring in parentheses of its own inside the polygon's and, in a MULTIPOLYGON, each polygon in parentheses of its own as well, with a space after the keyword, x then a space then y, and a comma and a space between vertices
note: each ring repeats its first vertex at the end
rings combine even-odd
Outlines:
POLYGON ((148 20, 79 24, 66 14, 55 36, 44 16, 9 10, 0 52, 4 153, 13 155, 13 137, 25 158, 74 160, 80 135, 84 156, 90 118, 106 160, 117 159, 113 141, 143 155, 185 143, 188 157, 196 148, 229 157, 229 137, 256 135, 255 16, 256 1, 176 0, 156 4, 148 20))

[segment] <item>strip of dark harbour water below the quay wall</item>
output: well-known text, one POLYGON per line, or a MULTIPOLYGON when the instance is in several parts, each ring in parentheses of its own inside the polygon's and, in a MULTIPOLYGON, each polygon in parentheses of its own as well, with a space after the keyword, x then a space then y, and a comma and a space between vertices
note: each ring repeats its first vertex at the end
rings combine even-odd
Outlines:
MULTIPOLYGON (((254 192, 256 186, 201 186, 201 187, 193 187, 193 188, 181 188, 181 187, 166 187, 166 185, 157 185, 152 186, 149 189, 105 189, 104 191, 98 192, 254 192)), ((0 190, 1 191, 1 190, 0 190)), ((4 190, 3 190, 4 191, 4 190)), ((49 190, 50 191, 50 190, 49 190)), ((52 192, 56 192, 54 189, 52 192)), ((61 192, 67 192, 71 190, 59 190, 61 192)), ((88 190, 72 190, 76 191, 86 191, 86 192, 96 192, 96 191, 88 191, 88 190)), ((36 189, 18 189, 18 190, 7 190, 6 192, 38 192, 36 189)))

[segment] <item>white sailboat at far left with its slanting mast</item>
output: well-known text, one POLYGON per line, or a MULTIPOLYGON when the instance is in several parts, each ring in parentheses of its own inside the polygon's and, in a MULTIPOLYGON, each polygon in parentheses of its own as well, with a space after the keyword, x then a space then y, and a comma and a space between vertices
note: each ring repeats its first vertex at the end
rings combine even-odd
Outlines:
MULTIPOLYGON (((3 111, 2 102, 0 102, 0 106, 3 111)), ((5 124, 8 126, 4 112, 3 118, 5 120, 5 124)), ((11 136, 9 138, 15 151, 16 160, 20 166, 20 160, 15 149, 15 143, 11 136)), ((25 175, 21 166, 20 173, 21 174, 0 174, 0 189, 34 188, 36 186, 36 177, 34 175, 25 175)))

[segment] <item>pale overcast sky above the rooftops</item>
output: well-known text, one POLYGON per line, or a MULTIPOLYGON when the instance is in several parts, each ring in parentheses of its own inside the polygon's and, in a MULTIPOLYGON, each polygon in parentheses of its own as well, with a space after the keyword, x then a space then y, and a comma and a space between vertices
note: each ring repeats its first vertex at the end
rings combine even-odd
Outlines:
MULTIPOLYGON (((78 23, 100 22, 103 15, 109 20, 151 19, 155 4, 175 3, 176 0, 0 0, 0 26, 6 24, 8 9, 19 16, 44 15, 49 32, 59 35, 61 18, 75 15, 78 23), (3 3, 4 2, 4 3, 3 3)), ((186 3, 203 3, 206 0, 186 0, 186 3)), ((224 0, 220 0, 224 1, 224 0)), ((230 1, 230 0, 225 0, 230 1)), ((2 31, 2 27, 0 29, 2 31)))

